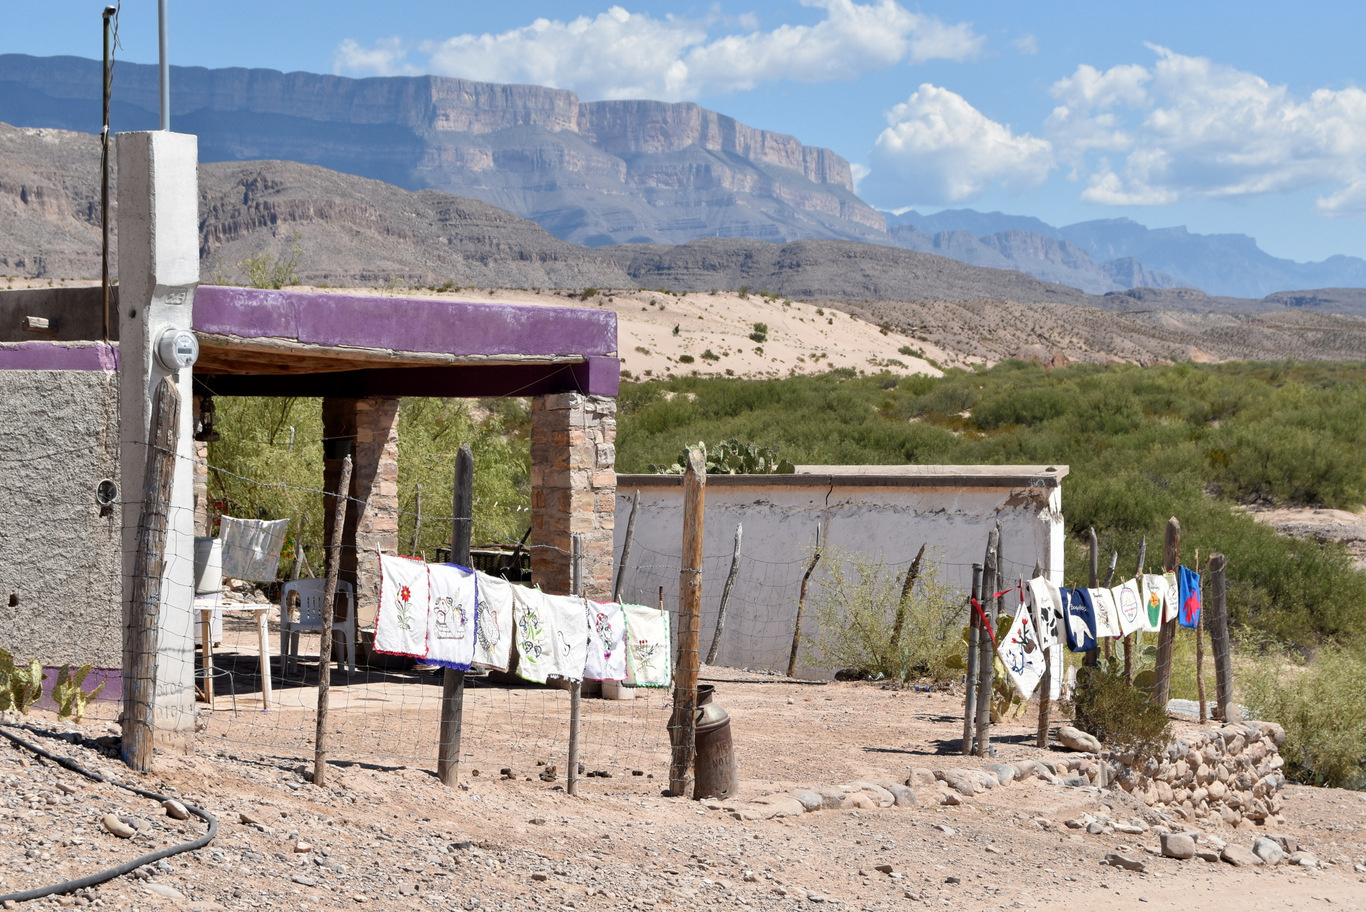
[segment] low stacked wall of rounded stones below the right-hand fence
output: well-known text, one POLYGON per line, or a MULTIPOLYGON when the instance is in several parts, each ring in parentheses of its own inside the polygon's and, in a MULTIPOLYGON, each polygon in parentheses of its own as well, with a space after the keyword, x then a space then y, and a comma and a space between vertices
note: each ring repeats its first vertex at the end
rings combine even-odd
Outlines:
POLYGON ((1152 759, 1102 751, 1108 780, 1097 781, 1100 769, 1089 778, 1098 785, 1113 782, 1149 807, 1167 807, 1186 819, 1264 823, 1281 808, 1285 775, 1279 748, 1284 741, 1285 729, 1274 722, 1224 725, 1190 741, 1177 739, 1165 755, 1152 759))

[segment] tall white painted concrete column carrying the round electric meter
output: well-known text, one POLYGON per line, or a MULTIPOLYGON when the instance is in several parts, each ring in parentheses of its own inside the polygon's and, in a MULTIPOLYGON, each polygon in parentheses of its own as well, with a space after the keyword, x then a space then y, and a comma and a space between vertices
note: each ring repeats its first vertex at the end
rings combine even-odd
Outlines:
POLYGON ((187 407, 167 523, 153 739, 186 750, 194 739, 194 430, 191 369, 156 358, 163 330, 191 329, 199 283, 198 137, 123 132, 119 162, 119 446, 123 500, 124 703, 133 680, 128 621, 152 393, 169 377, 187 407))

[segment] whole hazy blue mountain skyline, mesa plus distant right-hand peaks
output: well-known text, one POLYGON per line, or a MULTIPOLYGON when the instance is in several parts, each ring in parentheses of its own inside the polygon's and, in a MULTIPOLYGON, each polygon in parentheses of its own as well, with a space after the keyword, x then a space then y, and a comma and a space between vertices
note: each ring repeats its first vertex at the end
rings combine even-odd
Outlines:
MULTIPOLYGON (((970 209, 877 212, 836 153, 695 104, 585 102, 560 89, 444 76, 172 67, 171 79, 172 127, 198 134, 205 162, 277 158, 440 190, 589 247, 856 240, 1093 295, 1194 288, 1259 299, 1366 287, 1363 259, 1294 262, 1246 235, 1127 218, 1057 228, 970 209)), ((97 132, 100 81, 94 60, 0 55, 0 122, 97 132)), ((157 126, 156 67, 120 61, 113 86, 115 131, 157 126)))

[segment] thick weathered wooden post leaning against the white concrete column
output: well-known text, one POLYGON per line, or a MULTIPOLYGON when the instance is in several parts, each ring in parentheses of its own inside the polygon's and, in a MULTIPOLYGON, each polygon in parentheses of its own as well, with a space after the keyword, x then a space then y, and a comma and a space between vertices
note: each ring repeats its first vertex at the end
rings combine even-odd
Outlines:
POLYGON ((176 446, 180 442, 180 392, 165 377, 152 396, 149 441, 148 464, 142 475, 138 552, 133 562, 133 606, 128 613, 133 681, 123 707, 123 762, 138 773, 152 769, 157 650, 161 646, 161 575, 165 572, 167 513, 171 507, 176 446))

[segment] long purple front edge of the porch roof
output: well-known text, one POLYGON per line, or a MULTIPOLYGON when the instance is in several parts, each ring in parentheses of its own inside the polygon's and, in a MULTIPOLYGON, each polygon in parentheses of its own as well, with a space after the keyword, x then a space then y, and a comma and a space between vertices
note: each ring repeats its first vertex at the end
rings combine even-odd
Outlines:
POLYGON ((245 339, 452 355, 616 354, 616 314, 585 307, 199 285, 194 328, 245 339))

